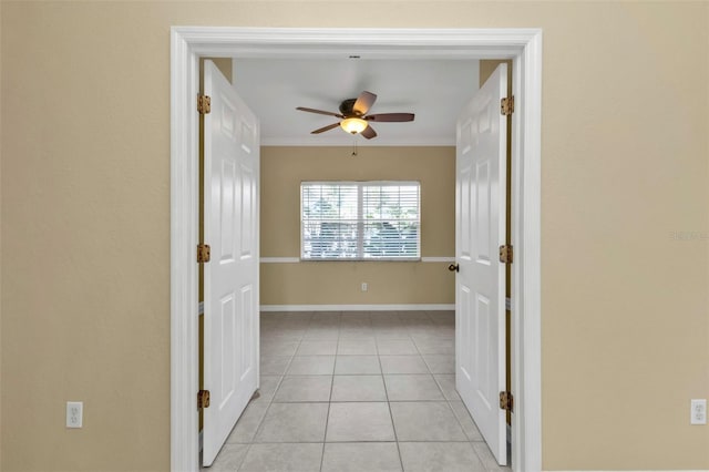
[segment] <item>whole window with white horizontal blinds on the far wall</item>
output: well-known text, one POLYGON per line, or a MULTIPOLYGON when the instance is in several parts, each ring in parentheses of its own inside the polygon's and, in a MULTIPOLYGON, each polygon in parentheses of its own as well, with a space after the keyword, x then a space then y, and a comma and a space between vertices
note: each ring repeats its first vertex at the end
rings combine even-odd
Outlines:
POLYGON ((418 182, 304 182, 300 257, 418 260, 418 182))

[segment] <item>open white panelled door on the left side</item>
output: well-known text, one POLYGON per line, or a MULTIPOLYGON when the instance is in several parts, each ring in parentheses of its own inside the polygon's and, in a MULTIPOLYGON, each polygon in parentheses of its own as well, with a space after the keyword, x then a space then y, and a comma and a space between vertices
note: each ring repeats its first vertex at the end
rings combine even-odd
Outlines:
POLYGON ((210 61, 204 92, 203 465, 210 465, 258 388, 259 124, 210 61))

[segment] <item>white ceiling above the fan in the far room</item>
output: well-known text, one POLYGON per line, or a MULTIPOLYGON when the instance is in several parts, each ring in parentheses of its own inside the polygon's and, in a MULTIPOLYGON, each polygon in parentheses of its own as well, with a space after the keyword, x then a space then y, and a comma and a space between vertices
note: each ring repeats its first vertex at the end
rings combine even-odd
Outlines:
POLYGON ((479 88, 477 60, 234 59, 239 95, 261 122, 264 145, 351 146, 337 127, 312 130, 337 117, 297 111, 306 106, 339 113, 342 100, 367 90, 378 95, 372 113, 415 113, 410 123, 374 123, 378 136, 358 145, 453 145, 455 119, 479 88))

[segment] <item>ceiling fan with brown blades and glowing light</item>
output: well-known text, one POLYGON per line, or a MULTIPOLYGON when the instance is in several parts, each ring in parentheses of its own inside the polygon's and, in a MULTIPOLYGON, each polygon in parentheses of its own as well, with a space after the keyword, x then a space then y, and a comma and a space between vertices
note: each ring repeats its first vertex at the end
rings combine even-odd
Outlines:
POLYGON ((338 123, 332 123, 318 130, 311 131, 310 134, 320 134, 326 131, 330 131, 340 126, 348 133, 361 134, 362 136, 371 140, 377 136, 377 132, 369 124, 370 121, 398 123, 405 121, 413 121, 413 113, 377 113, 368 115, 367 112, 374 104, 377 95, 371 92, 362 92, 357 99, 347 99, 340 103, 340 113, 326 112, 322 110, 306 109, 305 106, 298 106, 296 110, 301 112, 318 113, 321 115, 336 116, 342 119, 338 123))

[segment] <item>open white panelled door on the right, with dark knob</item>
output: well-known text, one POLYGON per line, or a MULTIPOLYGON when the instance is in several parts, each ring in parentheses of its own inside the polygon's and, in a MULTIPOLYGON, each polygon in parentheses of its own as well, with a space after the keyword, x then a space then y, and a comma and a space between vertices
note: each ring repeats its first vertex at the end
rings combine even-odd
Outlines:
POLYGON ((505 239, 507 90, 501 64, 458 121, 455 163, 455 386, 500 464, 506 464, 505 239))

